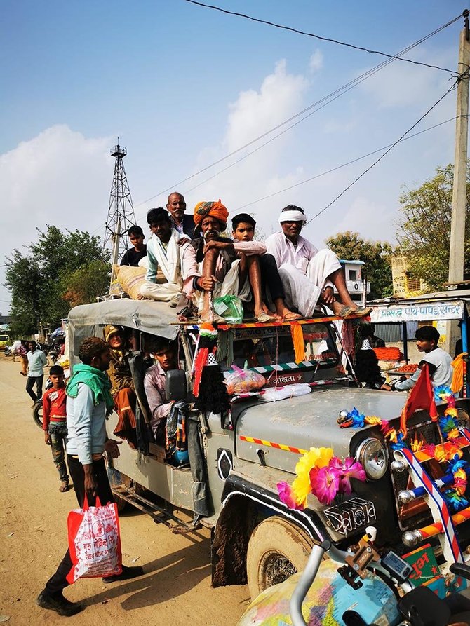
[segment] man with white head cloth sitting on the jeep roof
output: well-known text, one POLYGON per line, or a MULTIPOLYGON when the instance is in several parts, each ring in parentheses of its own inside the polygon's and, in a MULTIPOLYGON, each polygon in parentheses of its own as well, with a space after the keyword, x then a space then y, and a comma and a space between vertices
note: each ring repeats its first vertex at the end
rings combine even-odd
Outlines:
POLYGON ((267 252, 276 259, 287 306, 294 306, 306 318, 314 315, 317 303, 326 304, 341 318, 368 315, 371 308, 360 308, 351 300, 336 254, 329 248, 317 250, 300 236, 306 222, 303 209, 288 205, 279 216, 282 231, 265 242, 267 252))

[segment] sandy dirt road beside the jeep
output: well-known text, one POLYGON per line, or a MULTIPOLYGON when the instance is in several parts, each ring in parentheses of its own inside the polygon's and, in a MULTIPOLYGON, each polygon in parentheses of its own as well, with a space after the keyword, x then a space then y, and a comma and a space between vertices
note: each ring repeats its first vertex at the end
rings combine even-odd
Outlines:
MULTIPOLYGON (((86 609, 61 618, 35 604, 67 546, 73 491, 60 494, 51 451, 32 420, 20 364, 0 355, 0 615, 6 623, 81 626, 234 626, 248 606, 246 586, 210 587, 210 542, 205 529, 173 535, 130 510, 121 517, 123 562, 141 564, 137 580, 103 585, 79 580, 66 595, 86 609)), ((1 620, 0 620, 1 621, 1 620)))

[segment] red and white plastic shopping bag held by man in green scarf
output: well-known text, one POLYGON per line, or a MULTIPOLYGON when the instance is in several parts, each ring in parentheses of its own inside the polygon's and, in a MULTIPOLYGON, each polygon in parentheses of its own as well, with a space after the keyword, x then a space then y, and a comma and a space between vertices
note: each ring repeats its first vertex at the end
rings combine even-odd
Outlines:
POLYGON ((74 583, 77 578, 101 578, 121 573, 121 535, 116 503, 102 506, 97 497, 96 506, 89 507, 85 496, 83 509, 69 512, 67 528, 72 559, 68 583, 74 583))

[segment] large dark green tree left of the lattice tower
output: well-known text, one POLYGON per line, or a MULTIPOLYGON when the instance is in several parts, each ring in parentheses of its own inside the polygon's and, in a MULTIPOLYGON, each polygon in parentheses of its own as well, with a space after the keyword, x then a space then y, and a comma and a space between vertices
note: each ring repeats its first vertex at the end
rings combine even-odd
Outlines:
POLYGON ((67 317, 70 306, 65 294, 71 290, 75 290, 74 304, 93 301, 95 291, 86 283, 95 280, 101 290, 103 266, 109 262, 109 252, 102 250, 99 237, 78 230, 62 232, 56 226, 38 232, 27 254, 14 250, 6 259, 5 285, 11 291, 11 327, 16 336, 37 332, 40 322, 53 327, 67 317))

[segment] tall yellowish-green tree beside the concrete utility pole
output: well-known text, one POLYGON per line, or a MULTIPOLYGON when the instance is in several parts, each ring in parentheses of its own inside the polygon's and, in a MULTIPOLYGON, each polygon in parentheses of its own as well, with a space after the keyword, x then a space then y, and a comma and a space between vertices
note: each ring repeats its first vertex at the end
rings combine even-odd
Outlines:
MULTIPOLYGON (((452 216, 453 165, 437 168, 434 178, 417 189, 406 189, 400 198, 401 219, 397 239, 408 270, 431 290, 448 280, 450 221, 452 216)), ((467 168, 464 275, 470 275, 470 172, 467 168)))

